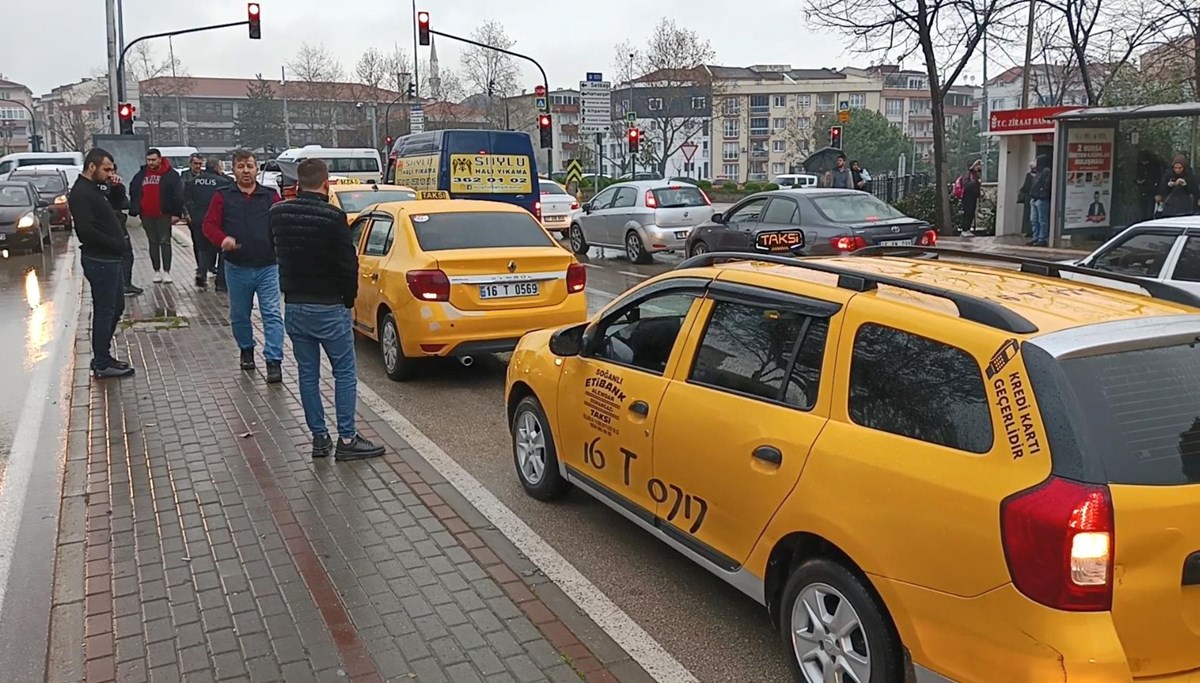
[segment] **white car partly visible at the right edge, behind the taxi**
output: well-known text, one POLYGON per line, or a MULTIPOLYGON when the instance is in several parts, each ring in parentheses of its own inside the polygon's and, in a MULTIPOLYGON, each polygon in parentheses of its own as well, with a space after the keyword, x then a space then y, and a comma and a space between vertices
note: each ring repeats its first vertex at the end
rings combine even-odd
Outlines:
MULTIPOLYGON (((1200 294, 1200 216, 1157 218, 1130 226, 1085 258, 1070 263, 1157 280, 1200 294)), ((1076 274, 1063 274, 1063 277, 1096 280, 1076 274)))

